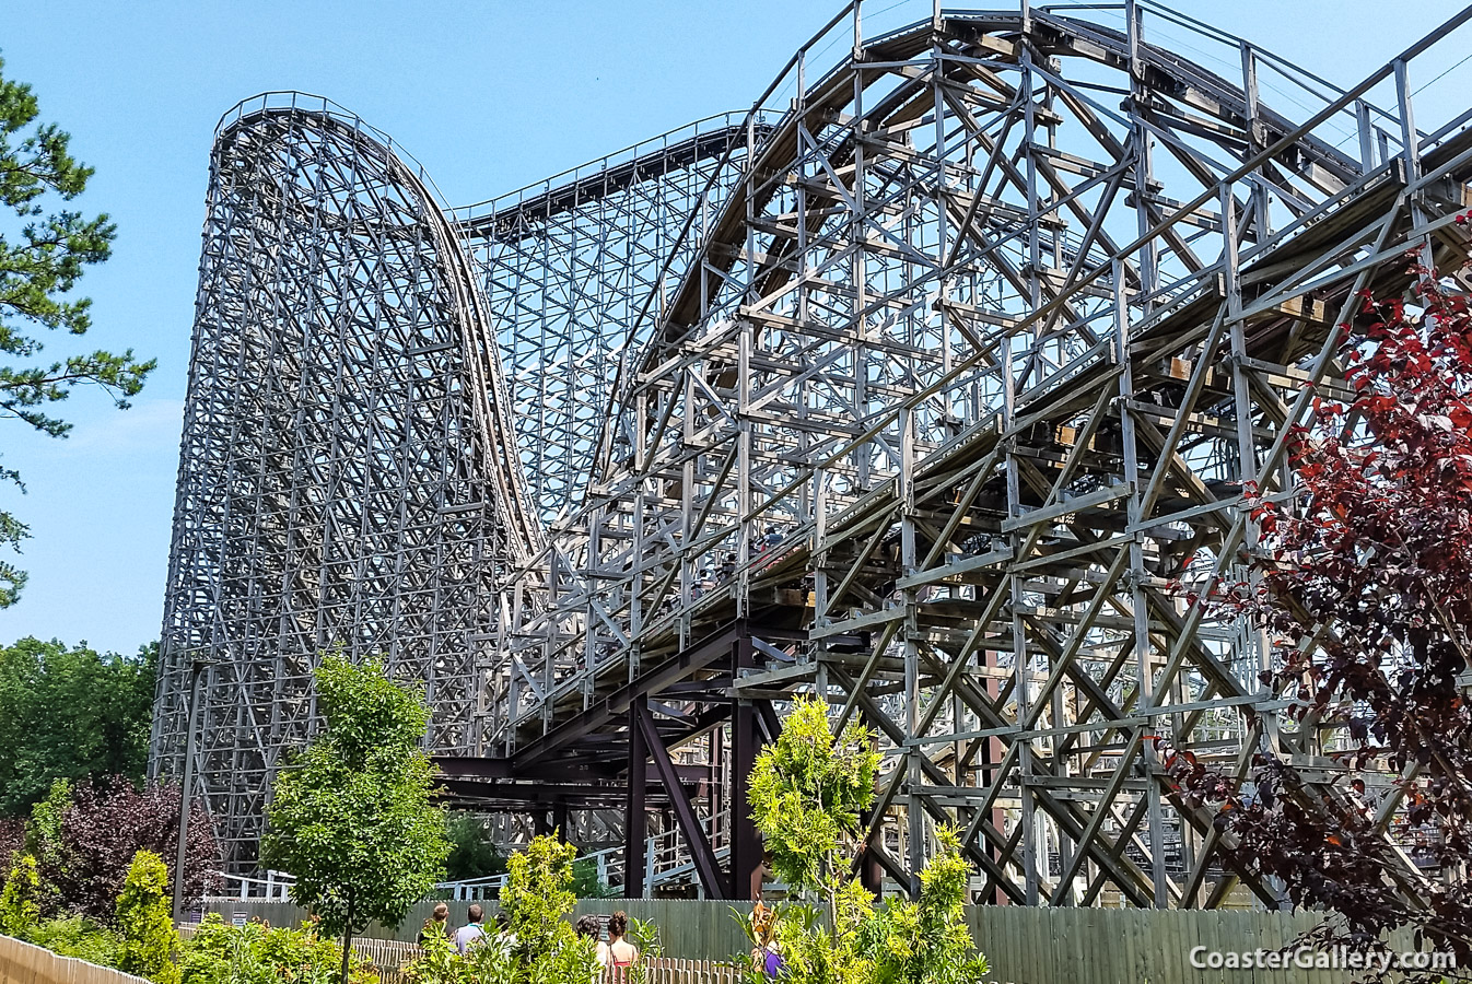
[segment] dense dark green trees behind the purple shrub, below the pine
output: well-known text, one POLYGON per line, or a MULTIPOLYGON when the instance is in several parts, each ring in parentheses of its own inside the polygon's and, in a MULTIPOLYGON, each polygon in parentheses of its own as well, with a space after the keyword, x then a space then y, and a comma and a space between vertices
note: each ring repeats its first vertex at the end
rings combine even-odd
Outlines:
POLYGON ((22 638, 0 649, 0 816, 59 778, 143 781, 158 644, 137 656, 22 638))

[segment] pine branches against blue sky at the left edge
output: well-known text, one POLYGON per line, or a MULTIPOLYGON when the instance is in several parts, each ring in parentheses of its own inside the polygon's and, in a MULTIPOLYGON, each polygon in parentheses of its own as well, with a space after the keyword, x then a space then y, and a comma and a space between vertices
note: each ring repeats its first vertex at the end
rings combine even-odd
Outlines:
MULTIPOLYGON (((0 416, 65 437, 71 425, 50 416, 50 404, 96 385, 127 407, 156 362, 140 362, 131 349, 35 362, 43 347, 37 329, 81 335, 91 325, 91 302, 69 296, 85 268, 112 253, 116 227, 106 215, 59 207, 87 188, 93 169, 72 157, 66 132, 40 122, 31 87, 4 78, 3 69, 0 62, 0 213, 10 218, 0 224, 0 353, 16 363, 0 365, 0 416)), ((15 469, 0 468, 0 479, 24 490, 15 469)), ((28 535, 25 524, 0 510, 0 544, 19 552, 28 535)), ((13 605, 24 585, 25 572, 0 560, 0 607, 13 605)))

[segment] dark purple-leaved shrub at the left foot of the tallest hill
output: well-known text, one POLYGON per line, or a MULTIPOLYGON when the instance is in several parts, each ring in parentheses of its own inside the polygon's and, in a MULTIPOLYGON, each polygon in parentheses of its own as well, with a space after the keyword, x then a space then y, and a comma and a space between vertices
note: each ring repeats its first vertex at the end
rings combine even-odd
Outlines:
MULTIPOLYGON (((199 899, 215 887, 219 852, 202 800, 190 806, 184 894, 199 899)), ((41 880, 62 908, 110 921, 132 856, 152 850, 163 858, 174 880, 178 850, 180 787, 150 782, 141 790, 121 777, 84 780, 62 813, 60 843, 41 852, 41 880)))

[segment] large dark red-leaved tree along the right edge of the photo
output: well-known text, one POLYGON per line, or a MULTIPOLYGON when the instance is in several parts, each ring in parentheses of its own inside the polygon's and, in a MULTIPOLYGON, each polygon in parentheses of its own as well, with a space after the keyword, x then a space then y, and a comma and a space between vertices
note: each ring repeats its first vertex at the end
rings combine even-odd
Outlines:
POLYGON ((1468 966, 1472 313, 1431 271, 1410 272, 1413 303, 1363 297, 1341 350, 1354 399, 1316 400, 1314 424, 1295 428, 1289 494, 1248 487, 1256 577, 1206 602, 1264 630, 1264 682, 1304 734, 1338 735, 1307 750, 1347 775, 1312 784, 1264 753, 1238 782, 1163 752, 1179 796, 1216 809, 1239 869, 1342 916, 1320 941, 1378 949, 1407 927, 1468 966))

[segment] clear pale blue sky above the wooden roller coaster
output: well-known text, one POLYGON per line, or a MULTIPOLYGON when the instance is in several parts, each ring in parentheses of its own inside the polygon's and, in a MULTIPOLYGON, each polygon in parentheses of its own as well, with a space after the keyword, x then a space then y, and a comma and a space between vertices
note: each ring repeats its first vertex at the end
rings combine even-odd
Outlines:
MULTIPOLYGON (((929 3, 885 10, 910 22, 929 3)), ((973 4, 946 4, 973 6, 973 4)), ((976 0, 1005 7, 1008 0, 976 0)), ((1451 0, 1185 0, 1178 9, 1338 84, 1451 16, 1451 0)), ((210 134, 265 90, 328 96, 392 134, 453 204, 490 197, 684 122, 743 109, 836 3, 475 3, 459 0, 4 0, 0 54, 97 175, 82 206, 118 221, 113 259, 82 279, 88 346, 156 356, 131 410, 96 393, 66 441, 0 422, 29 487, 31 584, 0 643, 87 640, 132 652, 159 632, 210 134)), ((1450 68, 1468 50, 1447 50, 1450 68)), ((1426 72, 1435 75, 1435 72, 1426 72)), ((1416 79, 1413 79, 1416 82, 1416 79)), ((1428 128, 1472 104, 1472 63, 1418 99, 1428 128)), ((1289 115, 1297 115, 1287 107, 1289 115)), ((77 347, 54 338, 47 354, 77 347)))

